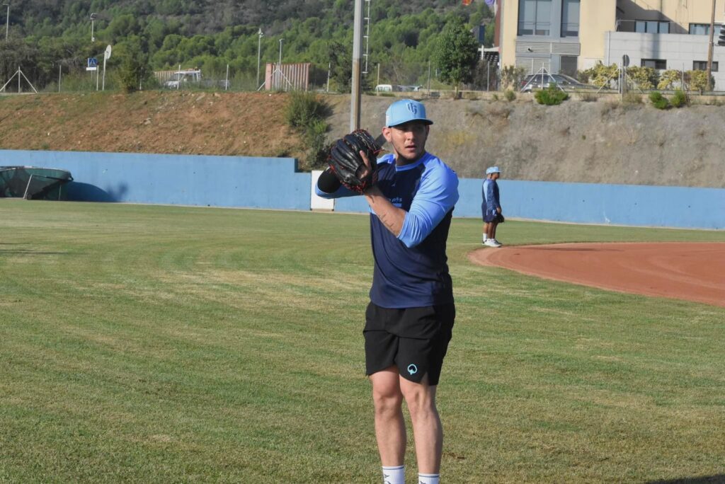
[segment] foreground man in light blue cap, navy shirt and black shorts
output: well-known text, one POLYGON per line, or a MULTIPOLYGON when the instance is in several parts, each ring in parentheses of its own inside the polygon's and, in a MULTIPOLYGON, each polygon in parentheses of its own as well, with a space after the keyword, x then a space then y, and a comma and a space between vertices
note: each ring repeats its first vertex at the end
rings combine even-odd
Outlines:
MULTIPOLYGON (((377 181, 363 193, 370 206, 375 262, 363 330, 365 367, 388 484, 405 483, 404 400, 413 422, 418 481, 439 483, 443 430, 436 388, 455 320, 446 241, 458 178, 426 151, 432 124, 418 101, 391 104, 382 132, 392 153, 378 159, 377 181)), ((329 169, 318 179, 315 193, 326 198, 357 195, 329 169)))

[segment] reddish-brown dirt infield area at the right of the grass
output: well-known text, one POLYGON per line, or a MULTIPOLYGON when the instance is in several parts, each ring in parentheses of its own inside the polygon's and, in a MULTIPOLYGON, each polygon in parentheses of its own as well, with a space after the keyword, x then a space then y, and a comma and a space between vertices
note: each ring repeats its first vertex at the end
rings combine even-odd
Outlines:
POLYGON ((544 279, 725 307, 725 243, 558 243, 468 257, 544 279))

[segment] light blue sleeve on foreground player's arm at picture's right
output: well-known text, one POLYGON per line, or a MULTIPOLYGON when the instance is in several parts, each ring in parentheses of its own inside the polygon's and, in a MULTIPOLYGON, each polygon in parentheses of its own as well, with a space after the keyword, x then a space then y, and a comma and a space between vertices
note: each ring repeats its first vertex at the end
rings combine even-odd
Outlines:
POLYGON ((455 172, 444 164, 426 170, 410 210, 405 214, 399 241, 407 247, 423 242, 457 201, 458 177, 455 172))

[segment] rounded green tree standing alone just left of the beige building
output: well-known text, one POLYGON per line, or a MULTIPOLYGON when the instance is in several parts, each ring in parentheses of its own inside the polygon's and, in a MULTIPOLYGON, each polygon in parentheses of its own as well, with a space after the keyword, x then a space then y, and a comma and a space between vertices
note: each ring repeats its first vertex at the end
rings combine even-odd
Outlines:
POLYGON ((455 97, 461 83, 473 80, 476 62, 479 60, 479 44, 459 17, 447 22, 438 38, 434 62, 439 69, 439 79, 452 84, 455 97))

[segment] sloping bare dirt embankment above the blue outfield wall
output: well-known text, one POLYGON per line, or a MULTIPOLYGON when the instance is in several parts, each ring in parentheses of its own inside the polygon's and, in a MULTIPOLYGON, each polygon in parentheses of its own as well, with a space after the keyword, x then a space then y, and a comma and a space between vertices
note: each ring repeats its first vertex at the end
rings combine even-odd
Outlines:
MULTIPOLYGON (((522 96, 523 97, 523 96, 522 96)), ((0 149, 305 157, 281 93, 144 92, 0 97, 0 149)), ((326 96, 330 139, 349 129, 349 96, 326 96)), ((379 133, 394 99, 363 96, 379 133)), ((428 150, 460 176, 725 187, 725 108, 660 111, 618 101, 428 99, 428 150)), ((0 164, 3 164, 0 161, 0 164)))

